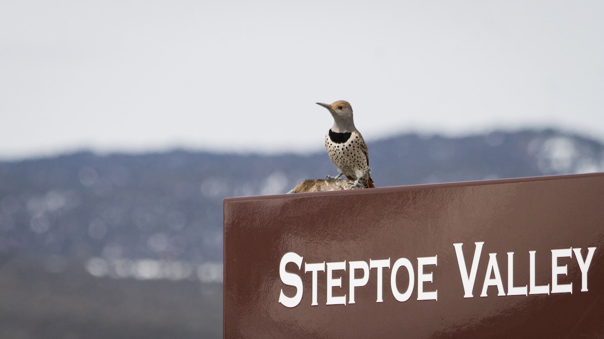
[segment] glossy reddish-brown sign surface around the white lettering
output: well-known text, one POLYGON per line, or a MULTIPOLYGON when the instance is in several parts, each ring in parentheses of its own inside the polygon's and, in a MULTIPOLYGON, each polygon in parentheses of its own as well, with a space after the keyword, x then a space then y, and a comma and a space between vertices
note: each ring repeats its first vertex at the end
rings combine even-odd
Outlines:
MULTIPOLYGON (((351 337, 532 337, 596 338, 604 336, 604 174, 493 180, 486 182, 359 189, 355 191, 228 198, 224 203, 224 334, 227 338, 351 337), (453 244, 463 243, 471 270, 475 242, 484 242, 472 290, 464 298, 460 264, 453 244), (498 287, 480 297, 489 253, 497 253, 504 293, 508 255, 513 256, 513 285, 530 284, 529 251, 535 252, 535 285, 552 287, 554 249, 596 247, 588 269, 588 291, 573 253, 559 258, 572 293, 498 296, 498 287), (303 282, 301 302, 288 308, 280 291, 294 287, 280 279, 285 253, 303 262, 346 261, 342 288, 347 305, 326 305, 327 271, 318 272, 318 305, 312 302, 312 274, 295 264, 287 271, 303 282), (417 258, 437 256, 428 265, 437 300, 417 300, 417 258), (383 302, 376 302, 376 268, 368 283, 355 288, 349 304, 349 262, 398 258, 413 264, 410 299, 397 301, 390 270, 384 269, 383 302)), ((356 270, 355 277, 362 275, 356 270)), ((490 277, 493 277, 494 273, 490 277)), ((404 292, 408 275, 397 274, 404 292)), ((549 291, 550 289, 548 289, 549 291)))

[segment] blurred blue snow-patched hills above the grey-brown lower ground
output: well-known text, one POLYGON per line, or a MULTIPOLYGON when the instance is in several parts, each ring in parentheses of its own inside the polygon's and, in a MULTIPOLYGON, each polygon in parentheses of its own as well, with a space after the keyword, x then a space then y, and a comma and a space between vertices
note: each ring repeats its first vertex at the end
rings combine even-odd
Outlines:
MULTIPOLYGON (((376 186, 604 171, 604 145, 553 130, 368 142, 376 186)), ((76 153, 0 163, 0 253, 222 261, 222 200, 336 174, 326 152, 76 153)))

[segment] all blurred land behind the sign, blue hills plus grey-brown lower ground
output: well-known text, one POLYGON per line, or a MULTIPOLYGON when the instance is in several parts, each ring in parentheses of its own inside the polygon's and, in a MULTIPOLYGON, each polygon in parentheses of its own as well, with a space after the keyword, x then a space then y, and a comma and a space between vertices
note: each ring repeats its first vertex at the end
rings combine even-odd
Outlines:
MULTIPOLYGON (((604 171, 602 144, 551 130, 368 147, 377 186, 604 171)), ((223 198, 335 173, 323 150, 0 162, 0 337, 220 338, 223 198)))

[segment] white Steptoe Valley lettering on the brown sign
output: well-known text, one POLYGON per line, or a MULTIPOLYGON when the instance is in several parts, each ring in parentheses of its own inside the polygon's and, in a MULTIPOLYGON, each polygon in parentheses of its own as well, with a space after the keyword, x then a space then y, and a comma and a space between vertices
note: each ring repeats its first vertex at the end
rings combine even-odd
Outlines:
MULTIPOLYGON (((457 264, 461 276, 461 283, 463 285, 464 290, 464 298, 472 298, 476 276, 478 272, 478 266, 481 261, 481 253, 483 250, 484 242, 478 241, 474 242, 474 256, 472 258, 472 264, 470 269, 468 270, 468 266, 466 265, 466 258, 464 258, 463 253, 463 243, 453 244, 455 248, 455 255, 457 256, 457 264)), ((549 284, 537 285, 538 282, 546 282, 544 279, 538 280, 537 278, 537 267, 536 267, 536 251, 528 251, 528 269, 529 269, 529 281, 528 284, 515 286, 514 282, 516 280, 516 284, 518 284, 518 277, 514 276, 514 252, 507 252, 507 289, 503 283, 503 279, 501 279, 501 270, 499 267, 499 263, 497 260, 497 253, 489 253, 489 260, 487 262, 486 269, 481 267, 481 272, 484 270, 484 281, 483 288, 480 294, 480 297, 487 297, 489 292, 489 287, 497 288, 497 296, 529 296, 534 294, 558 294, 558 293, 573 293, 573 282, 575 287, 578 284, 578 276, 576 278, 577 281, 565 281, 565 278, 561 277, 564 275, 566 280, 570 280, 568 270, 575 270, 576 267, 573 267, 574 256, 576 257, 577 265, 581 271, 581 292, 588 292, 588 272, 590 270, 591 262, 594 258, 594 253, 596 252, 596 247, 587 247, 587 251, 585 253, 585 257, 582 255, 582 249, 569 247, 567 249, 553 249, 551 252, 551 282, 549 284), (564 265, 560 265, 559 261, 561 258, 570 258, 567 259, 567 262, 564 265), (572 261, 572 262, 569 262, 572 261), (570 265, 570 268, 569 268, 570 265), (560 280, 559 280, 560 279, 560 280), (559 284, 559 282, 565 282, 565 284, 559 284), (550 288, 551 285, 551 288, 550 288)), ((525 257, 524 257, 525 258, 525 257)), ((294 252, 288 252, 283 255, 279 264, 279 276, 281 278, 281 282, 283 285, 289 287, 283 287, 280 290, 278 302, 288 308, 294 308, 300 305, 300 302, 303 297, 304 292, 304 282, 303 275, 306 273, 312 273, 312 277, 307 277, 307 280, 312 282, 312 299, 310 302, 310 306, 318 306, 318 291, 320 288, 327 287, 327 295, 326 295, 326 303, 325 305, 347 305, 356 303, 355 297, 356 292, 358 292, 358 288, 367 287, 369 284, 370 276, 372 274, 373 268, 376 269, 376 302, 382 303, 384 302, 384 271, 385 269, 390 269, 390 290, 396 299, 399 302, 406 302, 411 298, 413 294, 414 288, 417 286, 417 300, 438 300, 438 289, 436 287, 432 287, 434 291, 426 291, 426 284, 434 284, 434 268, 429 270, 426 268, 428 265, 437 266, 438 256, 429 256, 423 258, 417 258, 417 271, 414 270, 413 264, 409 259, 399 258, 394 261, 392 267, 390 266, 390 260, 388 259, 369 259, 369 261, 339 261, 339 262, 317 262, 317 263, 307 263, 304 262, 304 270, 301 270, 301 265, 303 263, 303 257, 294 252), (298 271, 288 271, 286 268, 288 266, 293 268, 294 265, 298 267, 298 271), (348 266, 347 266, 348 264, 348 266), (401 267, 404 267, 409 276, 408 284, 404 291, 399 290, 399 286, 405 285, 405 280, 397 284, 397 275, 401 267), (346 273, 335 273, 335 271, 346 271, 349 270, 348 274, 346 273), (359 272, 360 271, 360 272, 359 272), (319 284, 319 272, 324 272, 321 274, 321 283, 325 285, 321 285, 324 287, 320 287, 319 284), (416 280, 417 277, 417 280, 416 280), (348 281, 345 281, 348 279, 348 281), (347 287, 346 287, 346 284, 347 287), (416 285, 417 284, 417 285, 416 285), (339 290, 335 290, 339 288, 339 290), (344 288, 348 289, 348 293, 344 294, 344 288), (289 295, 287 296, 286 292, 289 295), (402 292, 402 293, 401 293, 402 292), (334 296, 334 294, 336 294, 334 296), (343 294, 343 295, 342 295, 343 294), (348 298, 348 299, 347 299, 348 298)), ((486 258, 485 258, 486 259, 486 258)), ((518 261, 518 258, 516 258, 518 261)), ((517 264, 518 262, 516 262, 517 264)), ((524 262, 525 264, 525 262, 524 262)), ((522 265, 524 266, 524 265, 522 265)), ((549 274, 546 273, 546 267, 541 268, 540 274, 549 274)), ((518 267, 516 267, 518 269, 518 267)), ((516 272, 516 274, 518 274, 516 272)), ((524 274, 522 274, 524 276, 524 274)), ((573 275, 574 276, 574 275, 573 275)), ((544 276, 542 276, 544 277, 544 276)), ((387 279, 387 278, 386 278, 387 279)), ((373 281, 373 280, 372 280, 373 281)), ((308 287, 306 287, 309 290, 308 287)), ((428 287, 428 290, 431 288, 428 287)), ((493 289, 491 289, 493 291, 493 289)), ((275 291, 276 292, 276 291, 275 291)))

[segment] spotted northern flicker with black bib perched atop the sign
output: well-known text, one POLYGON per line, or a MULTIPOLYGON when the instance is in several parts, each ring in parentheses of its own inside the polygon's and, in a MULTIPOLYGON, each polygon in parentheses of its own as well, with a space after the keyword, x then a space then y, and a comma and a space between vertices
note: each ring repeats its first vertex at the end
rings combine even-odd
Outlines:
POLYGON ((355 187, 373 188, 367 145, 356 130, 350 104, 344 100, 330 105, 316 104, 325 107, 333 116, 333 126, 325 135, 325 148, 329 159, 338 168, 339 174, 334 179, 343 175, 354 180, 355 187))

